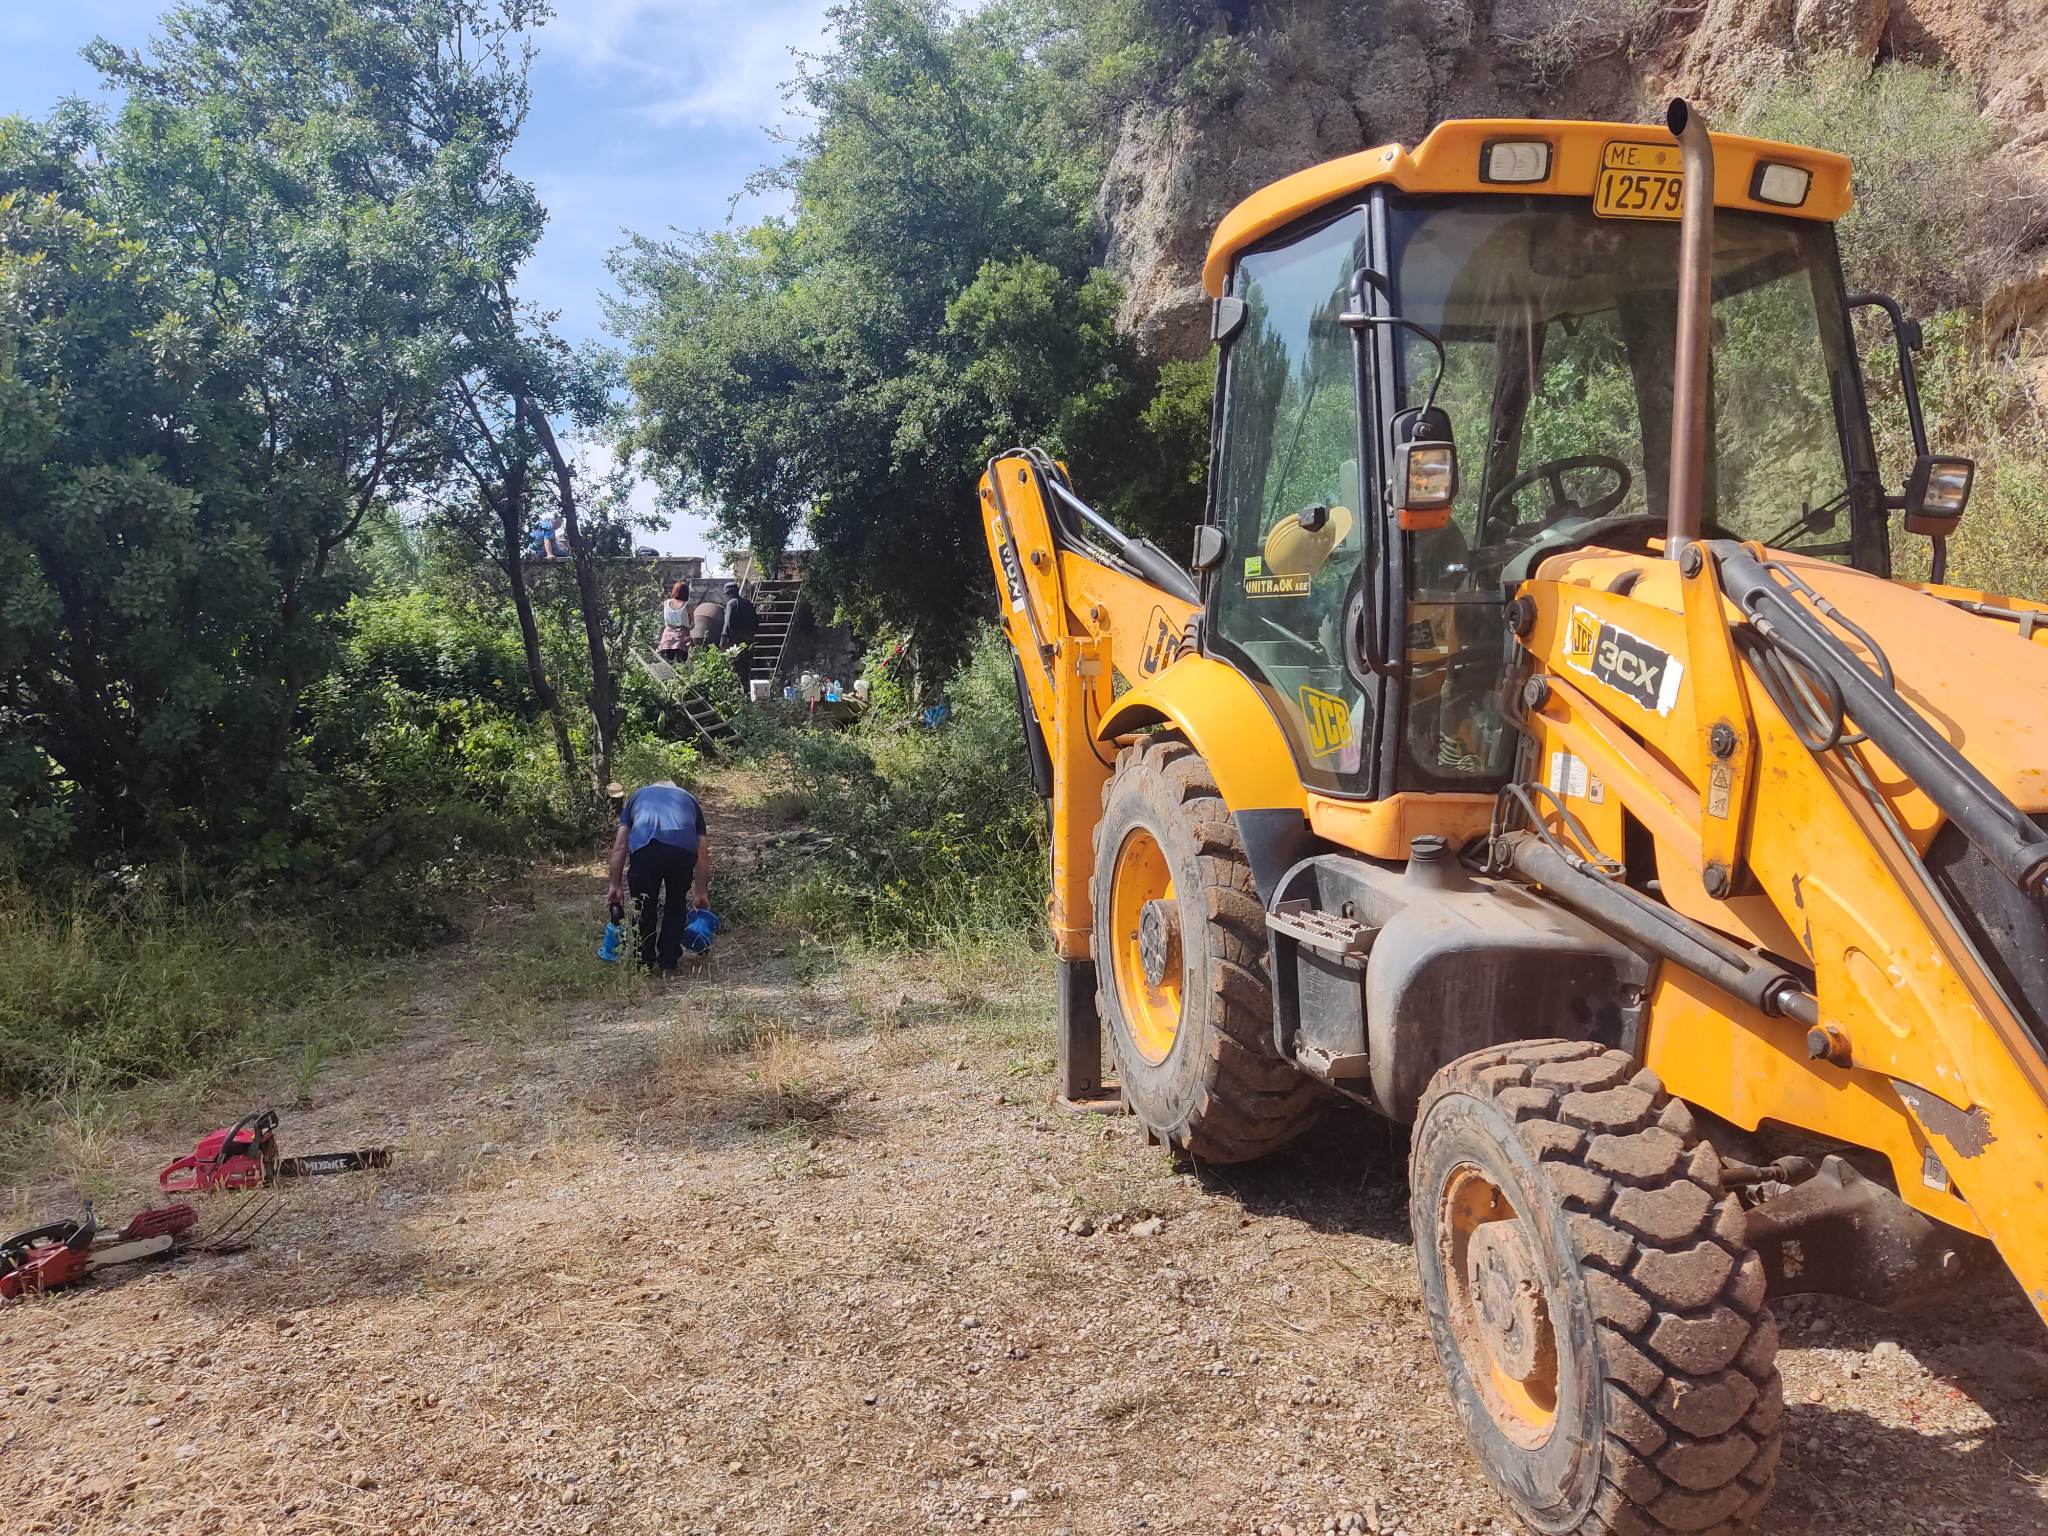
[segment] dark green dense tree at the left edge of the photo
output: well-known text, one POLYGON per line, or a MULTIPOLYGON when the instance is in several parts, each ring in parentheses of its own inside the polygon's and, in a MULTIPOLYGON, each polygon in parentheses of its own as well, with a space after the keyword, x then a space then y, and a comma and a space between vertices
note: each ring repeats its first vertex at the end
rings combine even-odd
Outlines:
MULTIPOLYGON (((264 420, 221 326, 57 190, 72 143, 0 125, 0 721, 12 799, 143 856, 225 842, 268 782, 274 528, 326 485, 252 475, 264 420)), ((80 186, 68 188, 72 195, 80 186)))

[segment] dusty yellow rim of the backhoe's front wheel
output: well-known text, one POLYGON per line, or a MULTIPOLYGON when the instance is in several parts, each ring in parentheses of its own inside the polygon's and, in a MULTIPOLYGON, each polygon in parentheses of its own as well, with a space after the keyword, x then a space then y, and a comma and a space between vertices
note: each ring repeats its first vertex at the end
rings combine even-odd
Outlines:
POLYGON ((1464 1372, 1507 1440, 1556 1427, 1556 1335, 1528 1225, 1477 1163, 1458 1163, 1438 1204, 1438 1262, 1464 1372))

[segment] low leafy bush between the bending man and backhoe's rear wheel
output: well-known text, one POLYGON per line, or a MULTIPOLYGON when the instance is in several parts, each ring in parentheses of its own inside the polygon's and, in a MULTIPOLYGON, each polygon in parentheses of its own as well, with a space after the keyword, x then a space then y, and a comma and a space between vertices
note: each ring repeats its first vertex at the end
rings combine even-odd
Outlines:
POLYGON ((743 889, 741 913, 874 944, 1042 930, 1044 807, 995 629, 979 633, 946 694, 938 729, 870 713, 852 735, 782 739, 809 829, 743 889))

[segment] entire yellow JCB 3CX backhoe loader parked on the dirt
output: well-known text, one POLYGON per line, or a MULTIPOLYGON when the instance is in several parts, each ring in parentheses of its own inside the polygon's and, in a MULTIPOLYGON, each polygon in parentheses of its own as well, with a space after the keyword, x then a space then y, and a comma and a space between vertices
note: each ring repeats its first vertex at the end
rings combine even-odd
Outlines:
POLYGON ((1186 567, 1044 453, 981 483, 1065 1096, 1106 1026, 1196 1159, 1409 1124, 1436 1348, 1540 1532, 1753 1520, 1772 1294, 2003 1257, 2048 1313, 2048 606, 1944 584, 1974 469, 1847 207, 1686 102, 1450 121, 1219 227, 1186 567))

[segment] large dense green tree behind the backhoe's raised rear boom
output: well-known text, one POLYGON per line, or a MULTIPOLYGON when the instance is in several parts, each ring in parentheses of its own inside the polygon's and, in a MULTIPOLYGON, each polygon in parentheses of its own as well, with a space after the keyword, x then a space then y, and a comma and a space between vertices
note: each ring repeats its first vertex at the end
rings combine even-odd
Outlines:
POLYGON ((1186 412, 1147 410, 1094 266, 1100 168, 1047 12, 856 0, 834 27, 791 88, 811 131, 762 178, 793 211, 614 260, 631 444, 762 555, 803 530, 856 618, 956 643, 989 590, 987 459, 1042 442, 1114 516, 1186 530, 1186 412))

